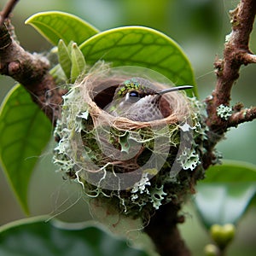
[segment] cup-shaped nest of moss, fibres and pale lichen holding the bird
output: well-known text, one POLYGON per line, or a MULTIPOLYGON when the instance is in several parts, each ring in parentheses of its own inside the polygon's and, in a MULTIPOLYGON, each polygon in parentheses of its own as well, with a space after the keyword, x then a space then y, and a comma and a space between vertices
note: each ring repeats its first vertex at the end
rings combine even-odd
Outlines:
MULTIPOLYGON (((153 90, 166 88, 148 74, 140 76, 150 79, 153 90)), ((54 161, 88 197, 108 201, 133 218, 148 218, 191 192, 192 173, 201 170, 196 140, 205 136, 205 128, 199 102, 182 92, 163 96, 171 111, 150 122, 108 113, 119 84, 131 77, 101 63, 70 87, 55 128, 54 161)))

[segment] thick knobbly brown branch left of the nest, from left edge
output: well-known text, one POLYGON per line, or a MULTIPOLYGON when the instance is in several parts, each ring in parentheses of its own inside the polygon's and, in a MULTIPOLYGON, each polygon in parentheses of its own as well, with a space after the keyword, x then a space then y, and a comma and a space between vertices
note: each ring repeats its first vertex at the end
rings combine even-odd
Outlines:
POLYGON ((22 84, 55 125, 61 113, 63 91, 56 89, 55 80, 49 74, 49 61, 43 55, 23 49, 4 24, 0 26, 0 74, 22 84))

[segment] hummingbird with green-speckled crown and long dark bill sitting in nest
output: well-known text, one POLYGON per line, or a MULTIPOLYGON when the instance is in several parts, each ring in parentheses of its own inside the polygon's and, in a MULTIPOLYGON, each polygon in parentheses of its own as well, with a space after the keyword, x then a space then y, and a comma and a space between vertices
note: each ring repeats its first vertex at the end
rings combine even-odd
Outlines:
POLYGON ((153 89, 155 85, 148 79, 139 77, 127 79, 118 84, 113 100, 105 108, 105 111, 115 117, 125 117, 139 122, 162 119, 172 113, 167 100, 162 101, 162 96, 168 92, 187 90, 192 87, 183 85, 156 91, 153 89))

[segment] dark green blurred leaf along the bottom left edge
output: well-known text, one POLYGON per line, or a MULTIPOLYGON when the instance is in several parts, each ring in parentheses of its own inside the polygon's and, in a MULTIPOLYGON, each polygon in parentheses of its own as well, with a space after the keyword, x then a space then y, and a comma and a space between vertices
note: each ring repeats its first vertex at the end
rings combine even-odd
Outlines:
POLYGON ((147 256, 96 224, 64 224, 30 218, 0 229, 4 256, 147 256))

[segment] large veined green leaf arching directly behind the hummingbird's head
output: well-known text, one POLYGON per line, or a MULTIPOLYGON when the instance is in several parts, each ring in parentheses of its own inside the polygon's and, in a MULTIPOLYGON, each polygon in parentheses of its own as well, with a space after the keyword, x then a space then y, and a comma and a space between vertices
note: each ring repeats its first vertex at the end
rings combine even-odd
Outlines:
MULTIPOLYGON (((183 50, 172 38, 143 26, 125 26, 96 34, 80 45, 86 61, 112 62, 114 67, 148 67, 174 84, 195 86, 194 73, 183 50)), ((195 95, 196 87, 193 92, 195 95)), ((187 90, 192 96, 192 90, 187 90)))

